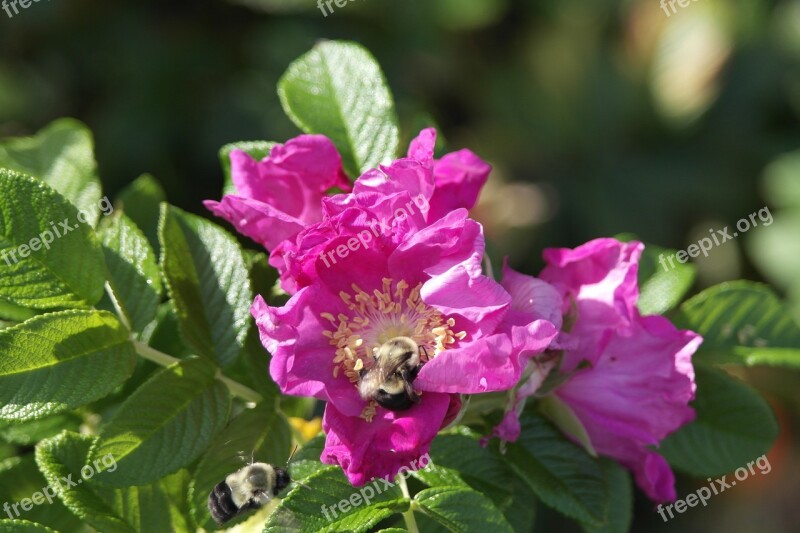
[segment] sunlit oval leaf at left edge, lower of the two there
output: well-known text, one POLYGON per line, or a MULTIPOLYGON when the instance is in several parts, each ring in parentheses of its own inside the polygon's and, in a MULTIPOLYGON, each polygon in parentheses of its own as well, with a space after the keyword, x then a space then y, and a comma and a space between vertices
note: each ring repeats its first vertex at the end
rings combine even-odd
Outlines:
POLYGON ((25 421, 103 398, 133 372, 136 354, 105 311, 40 315, 0 331, 0 420, 25 421))

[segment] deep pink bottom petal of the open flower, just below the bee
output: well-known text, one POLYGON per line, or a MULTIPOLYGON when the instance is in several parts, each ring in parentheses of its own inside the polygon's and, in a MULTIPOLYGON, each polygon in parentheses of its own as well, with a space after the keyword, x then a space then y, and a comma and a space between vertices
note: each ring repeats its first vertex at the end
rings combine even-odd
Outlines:
POLYGON ((449 394, 429 392, 408 411, 378 407, 375 417, 367 422, 346 416, 328 404, 322 420, 326 440, 320 459, 341 466, 354 486, 373 478, 393 481, 401 468, 413 469, 412 461, 428 453, 452 405, 449 394))

